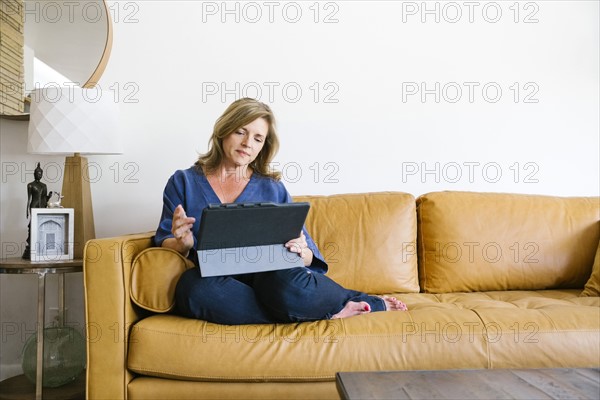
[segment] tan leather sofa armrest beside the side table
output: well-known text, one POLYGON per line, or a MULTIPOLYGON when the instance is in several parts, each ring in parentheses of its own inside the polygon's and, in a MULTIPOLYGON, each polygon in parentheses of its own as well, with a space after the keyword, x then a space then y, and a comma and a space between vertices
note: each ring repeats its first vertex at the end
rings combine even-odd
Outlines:
POLYGON ((146 312, 130 298, 131 265, 154 232, 90 240, 83 255, 87 398, 126 399, 131 326, 146 312))

